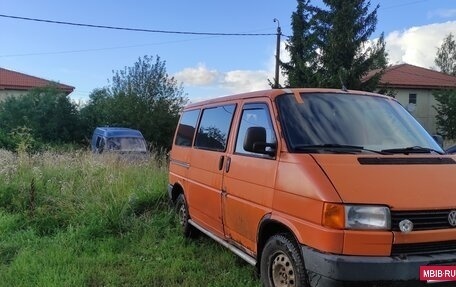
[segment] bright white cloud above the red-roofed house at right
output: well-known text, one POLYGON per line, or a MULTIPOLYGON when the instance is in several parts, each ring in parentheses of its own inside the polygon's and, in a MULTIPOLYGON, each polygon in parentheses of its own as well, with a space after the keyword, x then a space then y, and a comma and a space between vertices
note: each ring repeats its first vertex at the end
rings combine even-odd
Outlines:
POLYGON ((393 31, 385 37, 391 64, 408 63, 424 68, 434 66, 437 48, 443 39, 456 31, 456 21, 393 31))

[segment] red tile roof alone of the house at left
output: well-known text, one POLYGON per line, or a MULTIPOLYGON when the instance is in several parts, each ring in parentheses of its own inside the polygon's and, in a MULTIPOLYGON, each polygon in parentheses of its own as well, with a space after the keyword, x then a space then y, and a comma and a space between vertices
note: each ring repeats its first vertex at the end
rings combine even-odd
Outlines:
POLYGON ((0 90, 27 91, 33 88, 45 87, 52 84, 57 85, 57 88, 67 92, 68 94, 74 90, 74 87, 72 86, 0 68, 0 90))

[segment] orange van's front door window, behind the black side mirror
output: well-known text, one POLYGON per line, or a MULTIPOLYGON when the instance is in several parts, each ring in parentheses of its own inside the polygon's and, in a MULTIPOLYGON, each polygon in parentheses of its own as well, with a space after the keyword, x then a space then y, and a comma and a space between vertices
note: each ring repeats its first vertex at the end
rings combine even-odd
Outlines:
MULTIPOLYGON (((242 110, 241 121, 239 123, 236 147, 234 150, 236 153, 259 155, 244 149, 246 132, 250 127, 264 128, 266 130, 266 142, 277 143, 268 106, 264 103, 246 104, 242 110)), ((266 149, 270 148, 267 147, 266 149)))

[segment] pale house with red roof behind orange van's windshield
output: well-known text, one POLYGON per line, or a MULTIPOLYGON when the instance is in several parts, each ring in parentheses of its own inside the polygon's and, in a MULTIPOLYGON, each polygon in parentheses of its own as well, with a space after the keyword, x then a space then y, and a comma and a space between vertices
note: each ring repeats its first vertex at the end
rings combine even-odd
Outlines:
MULTIPOLYGON (((375 71, 367 75, 371 77, 375 71)), ((379 89, 392 90, 395 98, 431 134, 437 132, 434 106, 438 104, 432 92, 455 89, 456 77, 438 71, 400 64, 386 69, 379 82, 379 89)))

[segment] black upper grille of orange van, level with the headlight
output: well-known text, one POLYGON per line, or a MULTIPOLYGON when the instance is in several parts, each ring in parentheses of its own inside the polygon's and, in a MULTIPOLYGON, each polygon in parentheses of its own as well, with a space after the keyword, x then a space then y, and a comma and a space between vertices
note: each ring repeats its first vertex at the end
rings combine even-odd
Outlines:
POLYGON ((426 210, 426 211, 391 211, 391 228, 400 231, 399 222, 408 219, 413 222, 413 230, 435 230, 454 228, 448 221, 452 210, 426 210))

